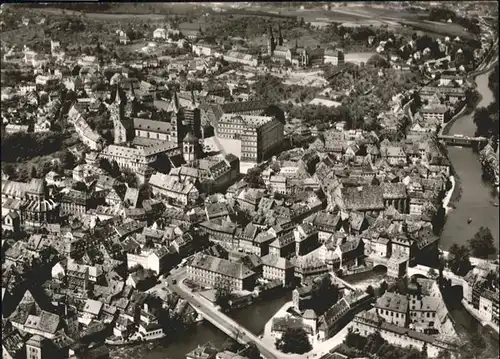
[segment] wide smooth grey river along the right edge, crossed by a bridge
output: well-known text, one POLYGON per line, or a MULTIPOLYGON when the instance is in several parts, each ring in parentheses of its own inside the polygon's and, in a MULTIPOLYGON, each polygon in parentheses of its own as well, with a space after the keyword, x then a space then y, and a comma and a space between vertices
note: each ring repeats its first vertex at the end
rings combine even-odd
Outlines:
MULTIPOLYGON (((491 71, 476 77, 477 90, 482 95, 478 107, 488 106, 493 101, 493 92, 488 87, 488 76, 491 71)), ((474 136, 476 125, 474 113, 457 118, 451 125, 449 134, 474 136)), ((481 164, 476 153, 470 148, 448 147, 448 156, 456 175, 460 178, 462 195, 447 216, 446 224, 441 234, 441 247, 445 250, 453 243, 467 244, 481 226, 488 227, 498 245, 499 215, 498 208, 491 202, 498 202, 498 194, 491 183, 481 178, 481 164), (467 224, 467 219, 472 222, 467 224)))

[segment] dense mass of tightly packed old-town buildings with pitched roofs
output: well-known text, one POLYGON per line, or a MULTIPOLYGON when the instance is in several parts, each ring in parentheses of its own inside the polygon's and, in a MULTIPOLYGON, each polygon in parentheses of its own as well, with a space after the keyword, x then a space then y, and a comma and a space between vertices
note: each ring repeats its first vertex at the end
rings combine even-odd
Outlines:
MULTIPOLYGON (((117 35, 129 43, 125 32, 117 35)), ((167 27, 152 37, 164 42, 178 35, 167 27)), ((199 32, 184 35, 193 41, 199 32)), ((220 51, 198 42, 197 58, 169 58, 168 80, 179 83, 174 89, 162 79, 160 58, 105 65, 96 56, 65 58, 55 41, 50 55, 24 49, 22 69, 34 81, 2 88, 5 131, 50 132, 66 123, 63 130, 74 130, 85 151, 65 173, 27 183, 2 174, 4 358, 99 357, 103 346, 79 343, 110 329, 118 341, 161 338, 165 313, 193 322, 194 308, 177 295, 145 293, 179 264, 191 284, 235 292, 234 303, 298 285, 297 315, 278 318, 273 332, 300 326, 326 340, 367 294, 345 291, 325 313, 315 313, 307 304, 315 278, 377 264, 399 278, 413 262, 437 254, 433 226, 450 164, 433 134, 447 119, 446 105, 464 99, 463 79, 441 76, 439 86, 420 91, 428 103, 404 140, 345 130, 345 123, 321 133, 299 126, 316 137, 313 143, 280 153, 283 112, 249 100, 260 58, 220 51), (222 60, 243 70, 220 74, 222 60), (131 67, 143 79, 129 76, 131 67), (223 85, 205 88, 211 75, 223 85), (199 78, 203 89, 188 86, 199 78), (75 95, 67 113, 60 85, 75 95), (106 135, 96 118, 111 123, 106 135), (112 177, 107 167, 131 173, 136 185, 112 177)), ((338 49, 285 47, 280 29, 276 40, 269 30, 267 56, 303 67, 344 63, 338 49)), ((357 328, 365 334, 382 328, 402 345, 446 348, 436 333, 452 328, 430 287, 418 282, 408 298, 386 293, 375 310, 356 316, 357 328)), ((479 311, 496 310, 498 319, 498 301, 471 293, 479 311)), ((188 358, 215 355, 236 357, 207 345, 188 358)))

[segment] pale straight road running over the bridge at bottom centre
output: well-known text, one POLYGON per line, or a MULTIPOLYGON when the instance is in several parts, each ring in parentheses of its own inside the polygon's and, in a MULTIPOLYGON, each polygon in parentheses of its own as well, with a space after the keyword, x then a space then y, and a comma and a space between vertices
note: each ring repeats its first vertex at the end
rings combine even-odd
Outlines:
POLYGON ((191 292, 184 284, 183 280, 186 278, 186 269, 181 268, 172 272, 167 278, 166 283, 170 290, 177 293, 181 298, 187 300, 193 307, 195 307, 203 317, 212 323, 214 326, 232 337, 236 338, 239 342, 250 343, 254 342, 259 349, 261 355, 267 359, 299 359, 303 356, 298 354, 285 354, 275 348, 266 346, 260 338, 252 334, 249 330, 242 327, 234 320, 229 318, 224 313, 217 310, 212 303, 196 293, 191 292))

